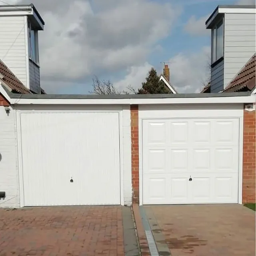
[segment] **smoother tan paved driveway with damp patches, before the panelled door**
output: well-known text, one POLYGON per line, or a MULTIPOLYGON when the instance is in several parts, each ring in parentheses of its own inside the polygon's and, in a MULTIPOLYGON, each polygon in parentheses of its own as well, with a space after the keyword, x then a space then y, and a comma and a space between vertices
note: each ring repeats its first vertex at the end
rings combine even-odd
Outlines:
POLYGON ((172 256, 255 256, 255 212, 245 206, 143 207, 159 251, 167 245, 172 256))

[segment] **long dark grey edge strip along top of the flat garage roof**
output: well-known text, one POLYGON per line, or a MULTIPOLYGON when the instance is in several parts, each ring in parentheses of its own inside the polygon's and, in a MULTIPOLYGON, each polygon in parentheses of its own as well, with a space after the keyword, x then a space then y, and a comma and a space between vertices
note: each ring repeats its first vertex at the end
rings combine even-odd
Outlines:
POLYGON ((250 96, 250 92, 226 93, 189 93, 189 94, 15 94, 7 92, 10 98, 16 99, 164 99, 164 98, 214 98, 214 97, 239 97, 250 96))

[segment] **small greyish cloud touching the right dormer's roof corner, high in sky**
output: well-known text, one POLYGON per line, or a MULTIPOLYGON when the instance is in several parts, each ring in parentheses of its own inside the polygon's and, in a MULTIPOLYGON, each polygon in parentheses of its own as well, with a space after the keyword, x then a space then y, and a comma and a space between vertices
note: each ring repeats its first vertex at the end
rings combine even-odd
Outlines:
POLYGON ((196 18, 196 16, 191 16, 188 22, 184 26, 184 31, 192 36, 205 36, 209 35, 210 31, 205 27, 205 21, 208 19, 209 15, 196 18))

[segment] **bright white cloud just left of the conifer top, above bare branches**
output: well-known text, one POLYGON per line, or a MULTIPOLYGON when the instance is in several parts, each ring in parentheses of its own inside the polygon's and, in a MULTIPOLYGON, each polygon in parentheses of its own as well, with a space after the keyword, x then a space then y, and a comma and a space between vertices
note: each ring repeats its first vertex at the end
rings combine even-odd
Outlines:
POLYGON ((126 90, 128 86, 132 86, 134 89, 141 88, 141 83, 148 76, 148 72, 152 68, 148 62, 145 62, 142 66, 131 66, 127 69, 127 75, 124 79, 114 82, 116 88, 119 91, 126 90))

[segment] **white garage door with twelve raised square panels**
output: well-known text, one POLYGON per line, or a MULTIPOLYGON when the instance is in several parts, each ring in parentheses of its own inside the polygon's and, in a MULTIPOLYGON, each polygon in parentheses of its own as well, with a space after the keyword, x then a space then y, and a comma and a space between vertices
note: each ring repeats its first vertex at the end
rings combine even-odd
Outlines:
POLYGON ((238 202, 239 120, 143 120, 143 203, 238 202))

